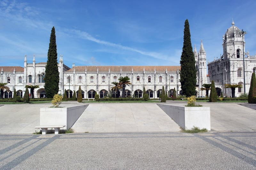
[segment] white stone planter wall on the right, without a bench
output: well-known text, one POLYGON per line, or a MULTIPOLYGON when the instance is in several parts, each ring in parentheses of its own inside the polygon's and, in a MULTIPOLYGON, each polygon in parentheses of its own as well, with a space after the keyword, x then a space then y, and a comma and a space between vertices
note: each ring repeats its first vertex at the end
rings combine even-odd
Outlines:
POLYGON ((211 131, 210 107, 184 107, 157 104, 182 129, 191 129, 196 126, 211 131))

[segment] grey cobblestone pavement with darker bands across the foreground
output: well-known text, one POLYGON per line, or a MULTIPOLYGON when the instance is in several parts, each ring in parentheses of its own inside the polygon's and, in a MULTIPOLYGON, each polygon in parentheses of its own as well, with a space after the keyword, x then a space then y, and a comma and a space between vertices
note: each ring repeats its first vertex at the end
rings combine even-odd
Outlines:
POLYGON ((256 132, 0 135, 0 169, 256 169, 256 132))

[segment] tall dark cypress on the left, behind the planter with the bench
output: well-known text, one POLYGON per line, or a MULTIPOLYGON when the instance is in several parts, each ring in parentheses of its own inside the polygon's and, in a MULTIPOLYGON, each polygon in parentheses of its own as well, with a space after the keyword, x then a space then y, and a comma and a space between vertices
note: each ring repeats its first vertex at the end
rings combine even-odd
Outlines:
POLYGON ((52 33, 50 37, 48 60, 45 67, 44 81, 44 89, 47 98, 52 98, 55 94, 58 94, 60 76, 58 71, 57 45, 54 26, 52 27, 52 33))

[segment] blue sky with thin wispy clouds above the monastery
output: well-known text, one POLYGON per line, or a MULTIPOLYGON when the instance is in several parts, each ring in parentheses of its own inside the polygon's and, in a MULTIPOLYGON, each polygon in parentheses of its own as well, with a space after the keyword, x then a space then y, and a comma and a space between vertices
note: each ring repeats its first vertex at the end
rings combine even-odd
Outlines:
POLYGON ((83 65, 180 65, 183 29, 203 40, 207 60, 223 53, 222 35, 235 25, 247 32, 245 51, 256 53, 256 1, 0 1, 2 66, 47 61, 52 26, 58 56, 83 65))

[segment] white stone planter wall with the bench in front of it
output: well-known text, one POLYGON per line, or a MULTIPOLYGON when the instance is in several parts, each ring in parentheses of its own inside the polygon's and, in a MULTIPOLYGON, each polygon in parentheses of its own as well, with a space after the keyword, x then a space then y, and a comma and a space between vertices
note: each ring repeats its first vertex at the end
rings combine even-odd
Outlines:
POLYGON ((63 108, 40 108, 40 126, 66 125, 66 127, 60 129, 69 129, 82 115, 88 105, 89 104, 63 108))

